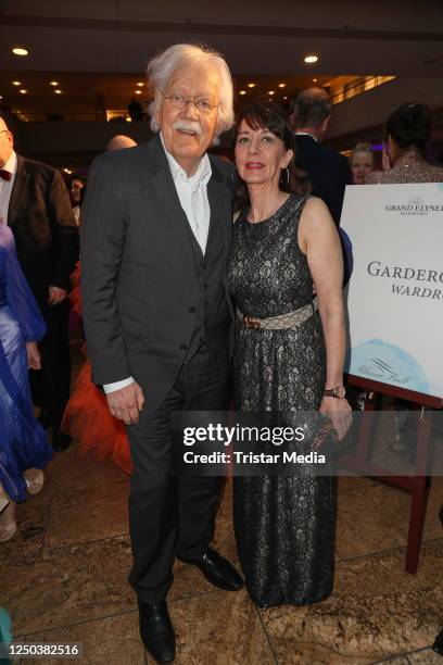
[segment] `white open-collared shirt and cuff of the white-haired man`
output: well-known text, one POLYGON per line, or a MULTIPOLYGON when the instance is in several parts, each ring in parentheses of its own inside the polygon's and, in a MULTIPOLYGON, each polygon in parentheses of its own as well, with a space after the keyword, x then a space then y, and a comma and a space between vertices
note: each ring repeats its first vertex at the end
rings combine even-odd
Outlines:
MULTIPOLYGON (((180 201, 180 205, 188 218, 189 226, 200 244, 204 254, 206 250, 207 234, 210 231, 211 208, 207 199, 207 183, 212 176, 211 162, 207 154, 200 160, 200 164, 194 175, 188 177, 186 171, 177 163, 173 155, 166 150, 162 134, 160 135, 163 149, 166 154, 167 163, 170 168, 174 185, 180 201)), ((104 392, 114 392, 121 388, 126 388, 134 382, 129 376, 114 384, 105 384, 104 392)))

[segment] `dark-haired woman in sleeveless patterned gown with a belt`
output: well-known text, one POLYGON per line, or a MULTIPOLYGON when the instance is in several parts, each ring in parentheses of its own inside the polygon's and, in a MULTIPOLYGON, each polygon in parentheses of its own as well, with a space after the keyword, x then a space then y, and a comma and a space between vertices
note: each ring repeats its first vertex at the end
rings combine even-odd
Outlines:
MULTIPOLYGON (((237 306, 236 407, 320 410, 333 415, 341 438, 351 407, 342 387, 340 241, 324 202, 307 196, 292 146, 292 130, 274 104, 243 110, 236 141, 243 205, 228 269, 237 306)), ((334 525, 333 479, 307 465, 290 477, 236 477, 235 530, 252 600, 271 606, 326 599, 334 525)))

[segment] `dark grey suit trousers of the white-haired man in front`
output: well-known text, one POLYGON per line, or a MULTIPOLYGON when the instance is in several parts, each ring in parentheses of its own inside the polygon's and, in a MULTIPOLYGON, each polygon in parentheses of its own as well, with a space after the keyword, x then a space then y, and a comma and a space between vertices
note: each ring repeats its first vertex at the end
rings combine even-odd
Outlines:
MULTIPOLYGON (((155 377, 153 377, 155 380, 155 377)), ((149 404, 149 386, 145 387, 149 404)), ((160 602, 173 582, 175 555, 197 557, 212 540, 219 478, 173 476, 174 411, 219 411, 229 401, 225 350, 213 360, 203 346, 180 373, 155 410, 144 407, 127 427, 134 462, 129 529, 134 566, 129 582, 142 602, 160 602)))

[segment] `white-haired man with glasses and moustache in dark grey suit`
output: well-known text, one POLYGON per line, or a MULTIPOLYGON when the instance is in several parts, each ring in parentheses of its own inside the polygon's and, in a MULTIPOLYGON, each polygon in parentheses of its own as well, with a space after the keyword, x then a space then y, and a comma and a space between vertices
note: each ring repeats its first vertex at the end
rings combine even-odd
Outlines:
POLYGON ((176 45, 148 66, 147 143, 97 158, 81 226, 83 303, 92 377, 127 425, 129 517, 140 633, 159 663, 175 655, 166 606, 177 555, 238 590, 210 549, 219 480, 174 477, 172 413, 229 401, 229 165, 207 149, 233 122, 232 81, 214 51, 176 45))

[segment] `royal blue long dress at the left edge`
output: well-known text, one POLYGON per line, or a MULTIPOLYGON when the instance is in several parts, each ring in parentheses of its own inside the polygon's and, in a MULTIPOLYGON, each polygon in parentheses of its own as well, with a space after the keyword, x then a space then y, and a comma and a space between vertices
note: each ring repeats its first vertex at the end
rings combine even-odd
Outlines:
POLYGON ((43 468, 52 456, 34 415, 25 347, 45 332, 12 231, 0 223, 0 482, 13 501, 26 499, 23 473, 43 468))

